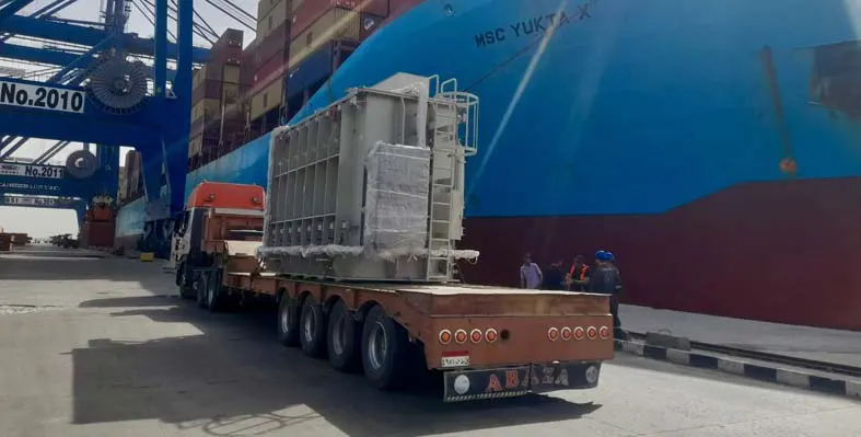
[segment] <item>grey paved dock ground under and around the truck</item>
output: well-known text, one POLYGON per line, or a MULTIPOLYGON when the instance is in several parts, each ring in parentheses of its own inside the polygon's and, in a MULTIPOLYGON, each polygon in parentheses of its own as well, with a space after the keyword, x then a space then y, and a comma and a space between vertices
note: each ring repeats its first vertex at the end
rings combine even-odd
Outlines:
POLYGON ((618 355, 591 391, 443 404, 279 346, 265 312, 212 314, 160 263, 0 255, 0 436, 859 436, 861 403, 618 355))

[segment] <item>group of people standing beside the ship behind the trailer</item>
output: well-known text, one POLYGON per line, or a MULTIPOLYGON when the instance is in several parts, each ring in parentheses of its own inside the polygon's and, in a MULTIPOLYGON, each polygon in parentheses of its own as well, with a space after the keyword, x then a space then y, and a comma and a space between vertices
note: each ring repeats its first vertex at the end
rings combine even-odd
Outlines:
POLYGON ((585 263, 583 255, 577 255, 571 267, 565 273, 563 261, 559 260, 543 272, 527 253, 523 256, 520 267, 521 288, 545 290, 586 291, 609 295, 609 310, 613 314, 613 327, 616 338, 625 338, 619 320, 619 294, 621 294, 621 276, 616 266, 616 257, 612 252, 595 252, 595 264, 585 263))

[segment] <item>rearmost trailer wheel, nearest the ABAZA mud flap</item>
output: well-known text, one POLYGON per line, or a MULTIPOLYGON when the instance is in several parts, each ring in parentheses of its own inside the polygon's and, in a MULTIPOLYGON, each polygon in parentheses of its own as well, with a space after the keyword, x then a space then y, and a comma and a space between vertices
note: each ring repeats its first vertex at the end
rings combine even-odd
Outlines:
POLYGON ((406 330, 387 317, 382 307, 372 308, 362 329, 364 377, 377 389, 403 386, 408 346, 406 330))

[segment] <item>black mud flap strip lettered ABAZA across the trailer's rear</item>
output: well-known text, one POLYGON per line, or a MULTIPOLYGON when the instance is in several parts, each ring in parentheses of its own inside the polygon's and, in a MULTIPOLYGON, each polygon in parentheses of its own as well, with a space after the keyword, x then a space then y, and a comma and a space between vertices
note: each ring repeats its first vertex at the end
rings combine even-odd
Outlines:
POLYGON ((522 396, 597 387, 601 363, 561 363, 444 373, 445 402, 522 396))

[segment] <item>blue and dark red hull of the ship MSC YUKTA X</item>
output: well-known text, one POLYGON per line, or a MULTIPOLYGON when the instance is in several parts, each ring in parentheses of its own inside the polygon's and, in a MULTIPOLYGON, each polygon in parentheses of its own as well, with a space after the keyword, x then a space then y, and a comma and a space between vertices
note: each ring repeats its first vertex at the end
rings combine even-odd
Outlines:
MULTIPOLYGON (((477 94, 464 280, 603 249, 628 303, 861 330, 861 1, 416 3, 288 123, 399 71, 477 94)), ((265 184, 268 145, 186 189, 265 184)))

